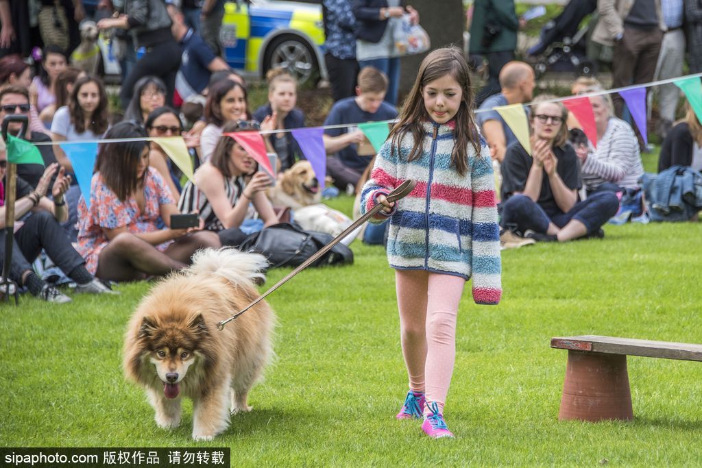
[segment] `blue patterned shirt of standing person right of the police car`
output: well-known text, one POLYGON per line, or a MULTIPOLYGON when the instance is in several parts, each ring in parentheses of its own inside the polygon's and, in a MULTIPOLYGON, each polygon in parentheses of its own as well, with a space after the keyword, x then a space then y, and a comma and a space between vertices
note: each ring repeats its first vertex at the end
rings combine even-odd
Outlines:
POLYGON ((356 17, 348 0, 324 0, 324 50, 340 60, 356 58, 356 17))

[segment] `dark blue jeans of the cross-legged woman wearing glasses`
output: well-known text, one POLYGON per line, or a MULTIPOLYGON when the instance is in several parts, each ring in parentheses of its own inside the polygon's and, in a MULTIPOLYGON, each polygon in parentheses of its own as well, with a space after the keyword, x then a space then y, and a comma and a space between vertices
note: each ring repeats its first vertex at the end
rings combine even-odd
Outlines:
POLYGON ((588 199, 578 201, 568 213, 550 218, 543 208, 526 195, 512 195, 502 203, 502 227, 516 227, 517 231, 531 229, 546 234, 548 224, 564 227, 571 220, 578 220, 588 229, 588 234, 600 229, 609 218, 616 215, 619 199, 613 192, 597 192, 588 199))

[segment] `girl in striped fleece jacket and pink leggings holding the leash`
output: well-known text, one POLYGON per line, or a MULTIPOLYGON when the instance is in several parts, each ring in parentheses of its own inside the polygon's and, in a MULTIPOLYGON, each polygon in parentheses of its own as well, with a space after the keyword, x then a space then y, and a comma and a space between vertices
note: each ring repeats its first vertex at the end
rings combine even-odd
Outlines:
POLYGON ((422 418, 432 438, 452 437, 444 403, 456 359, 456 316, 472 276, 477 304, 500 302, 500 239, 489 150, 472 113, 468 65, 458 48, 423 60, 399 123, 362 191, 364 213, 385 207, 388 262, 395 268, 409 392, 397 419, 422 418), (405 179, 415 189, 397 205, 385 196, 405 179))

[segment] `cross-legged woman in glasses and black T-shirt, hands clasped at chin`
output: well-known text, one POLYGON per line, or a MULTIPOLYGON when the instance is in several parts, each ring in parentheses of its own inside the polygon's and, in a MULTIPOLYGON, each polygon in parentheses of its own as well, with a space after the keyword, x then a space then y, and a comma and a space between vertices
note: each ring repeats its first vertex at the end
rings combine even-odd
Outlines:
POLYGON ((614 216, 614 193, 598 192, 578 201, 580 164, 568 143, 568 110, 555 96, 534 100, 529 114, 531 155, 517 142, 502 163, 501 226, 536 241, 570 241, 604 236, 600 227, 614 216))

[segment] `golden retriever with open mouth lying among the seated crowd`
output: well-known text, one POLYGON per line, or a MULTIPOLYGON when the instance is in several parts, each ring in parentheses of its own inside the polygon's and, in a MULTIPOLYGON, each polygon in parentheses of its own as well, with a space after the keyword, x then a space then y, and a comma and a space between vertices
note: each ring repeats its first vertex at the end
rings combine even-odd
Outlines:
POLYGON ((266 194, 273 206, 287 206, 293 210, 315 205, 322 199, 319 181, 310 161, 298 161, 278 178, 266 194))

